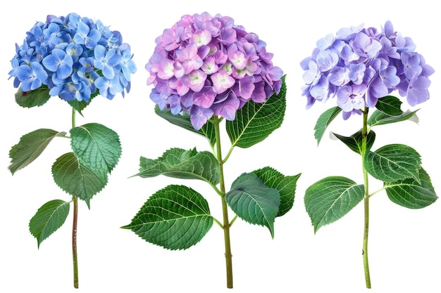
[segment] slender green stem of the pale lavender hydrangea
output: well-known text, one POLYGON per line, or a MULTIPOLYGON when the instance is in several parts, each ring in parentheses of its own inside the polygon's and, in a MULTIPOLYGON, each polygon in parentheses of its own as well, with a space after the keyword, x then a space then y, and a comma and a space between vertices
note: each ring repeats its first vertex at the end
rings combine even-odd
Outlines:
POLYGON ((364 264, 364 278, 366 280, 366 288, 371 288, 371 273, 369 273, 368 260, 368 235, 369 235, 369 183, 368 172, 364 168, 364 154, 366 152, 366 145, 368 140, 368 108, 363 112, 363 130, 362 130, 362 145, 361 145, 361 161, 363 165, 364 178, 364 233, 363 233, 363 264, 364 264))

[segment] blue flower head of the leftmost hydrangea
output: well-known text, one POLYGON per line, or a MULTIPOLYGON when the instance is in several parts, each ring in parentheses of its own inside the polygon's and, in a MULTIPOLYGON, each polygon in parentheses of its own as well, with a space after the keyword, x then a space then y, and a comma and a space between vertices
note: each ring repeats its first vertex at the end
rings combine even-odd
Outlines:
POLYGON ((130 74, 136 72, 120 32, 75 13, 36 22, 15 52, 9 72, 15 88, 47 87, 49 96, 67 101, 89 102, 97 90, 108 99, 116 93, 124 96, 130 91, 130 74))

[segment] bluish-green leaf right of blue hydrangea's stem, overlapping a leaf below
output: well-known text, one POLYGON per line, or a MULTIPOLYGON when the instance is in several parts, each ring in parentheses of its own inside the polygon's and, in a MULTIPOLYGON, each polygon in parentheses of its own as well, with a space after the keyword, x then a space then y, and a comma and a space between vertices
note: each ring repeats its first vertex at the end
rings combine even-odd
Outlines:
POLYGON ((118 134, 97 123, 70 129, 70 145, 80 163, 91 171, 110 173, 121 156, 118 134))

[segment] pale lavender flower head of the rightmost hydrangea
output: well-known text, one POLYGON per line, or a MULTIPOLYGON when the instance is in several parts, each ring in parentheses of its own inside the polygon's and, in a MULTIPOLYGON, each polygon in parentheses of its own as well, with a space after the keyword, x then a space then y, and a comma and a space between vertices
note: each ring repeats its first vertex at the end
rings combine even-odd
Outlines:
POLYGON ((429 98, 428 77, 434 70, 415 47, 409 37, 394 31, 390 21, 382 32, 360 25, 329 34, 301 63, 306 108, 336 96, 348 119, 396 90, 411 106, 423 103, 429 98))

